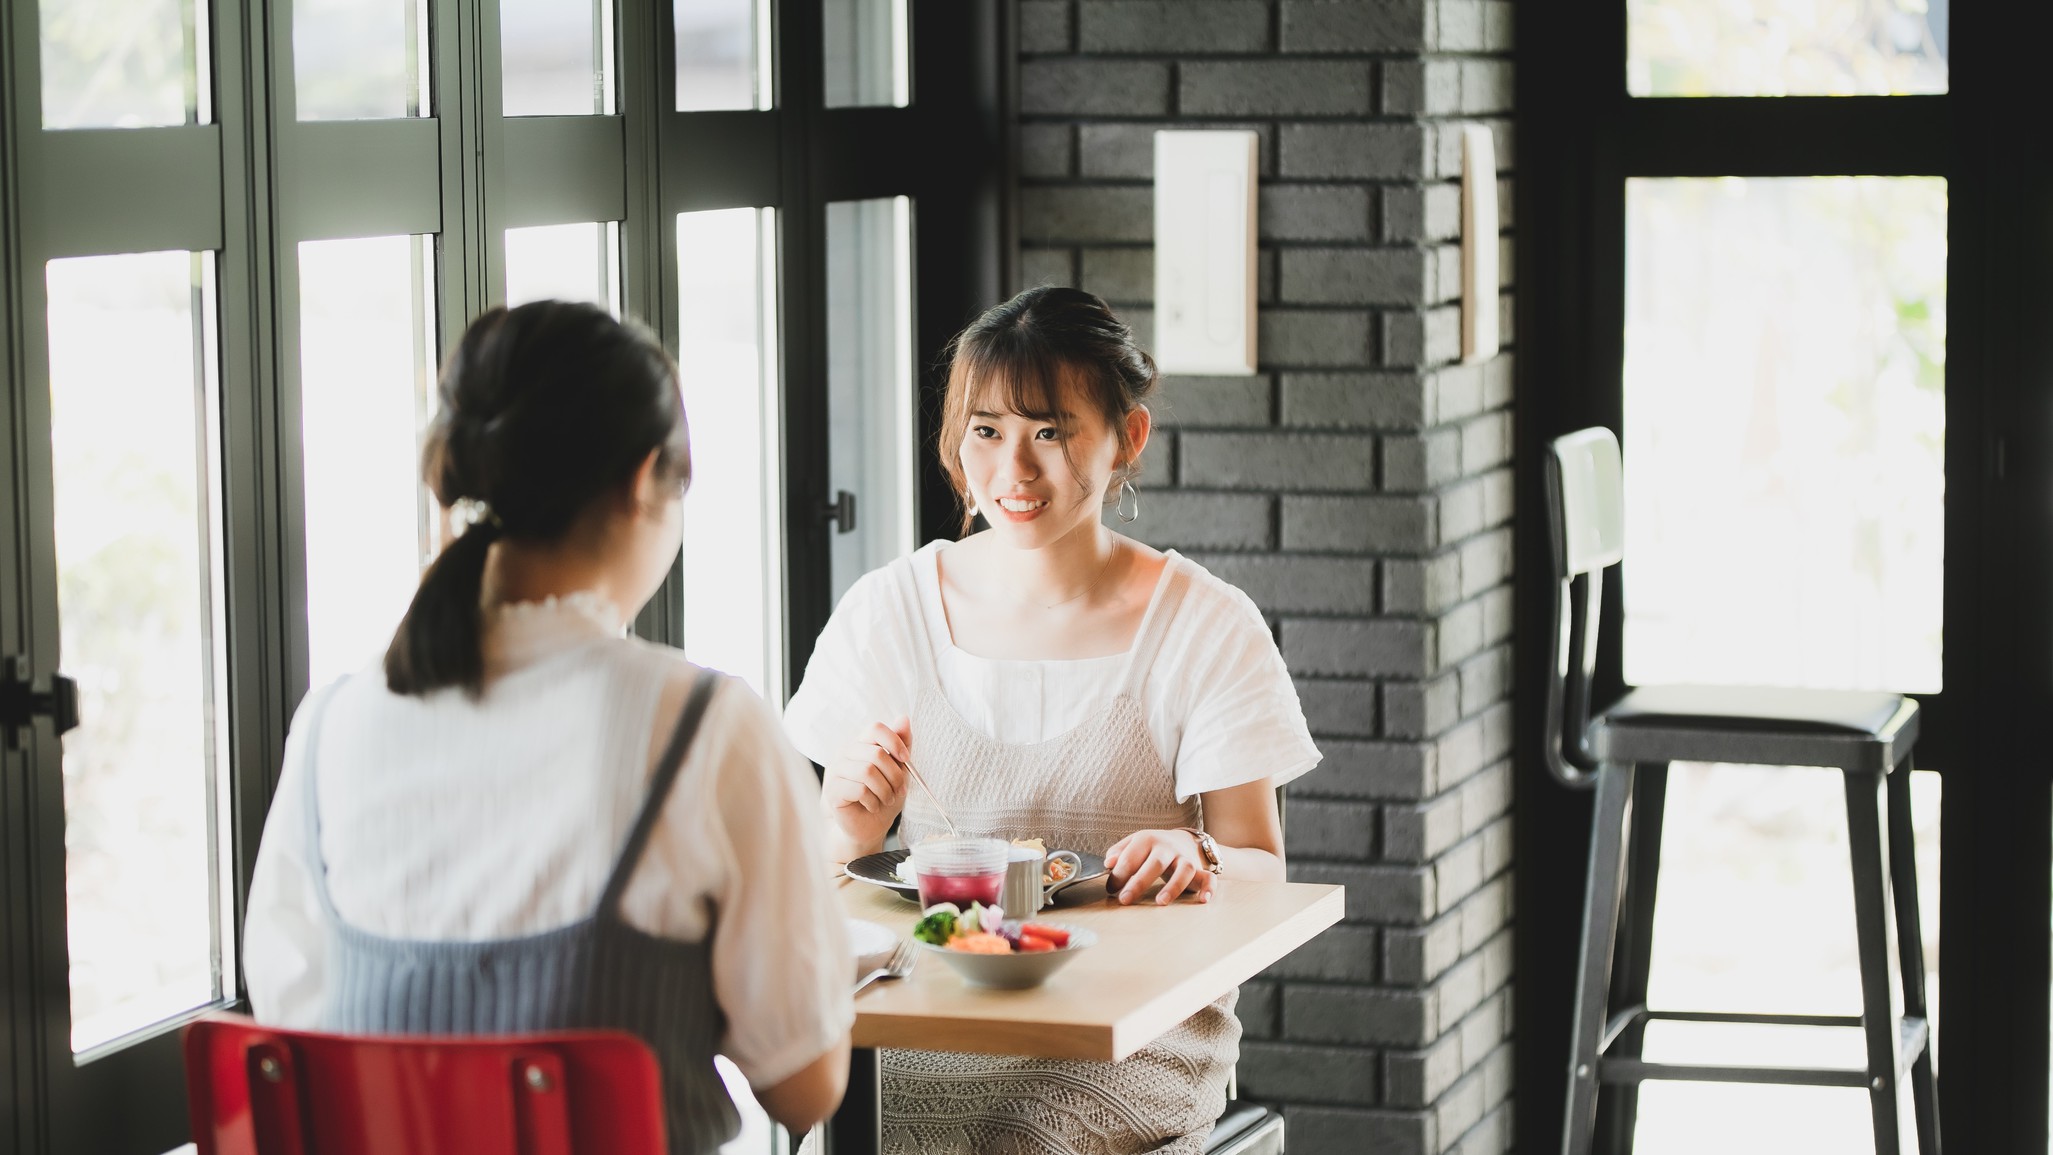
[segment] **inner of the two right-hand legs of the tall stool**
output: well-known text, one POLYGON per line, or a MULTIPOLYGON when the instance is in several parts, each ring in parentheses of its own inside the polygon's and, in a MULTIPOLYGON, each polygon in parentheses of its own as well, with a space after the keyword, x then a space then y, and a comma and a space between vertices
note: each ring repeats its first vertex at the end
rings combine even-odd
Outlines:
POLYGON ((1868 1108, 1874 1155, 1901 1155, 1897 1126, 1897 1018, 1889 989, 1897 960, 1889 952, 1889 880, 1883 849, 1883 778, 1846 771, 1846 835, 1854 866, 1854 938, 1860 956, 1860 1032, 1868 1044, 1868 1108))

